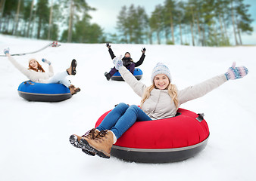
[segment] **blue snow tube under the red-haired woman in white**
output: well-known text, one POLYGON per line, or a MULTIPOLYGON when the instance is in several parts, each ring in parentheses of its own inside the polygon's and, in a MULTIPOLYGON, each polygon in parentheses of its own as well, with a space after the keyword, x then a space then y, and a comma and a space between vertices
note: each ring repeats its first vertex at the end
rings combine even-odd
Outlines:
POLYGON ((64 84, 23 81, 17 91, 20 97, 30 101, 59 102, 72 97, 69 88, 64 86, 64 84))

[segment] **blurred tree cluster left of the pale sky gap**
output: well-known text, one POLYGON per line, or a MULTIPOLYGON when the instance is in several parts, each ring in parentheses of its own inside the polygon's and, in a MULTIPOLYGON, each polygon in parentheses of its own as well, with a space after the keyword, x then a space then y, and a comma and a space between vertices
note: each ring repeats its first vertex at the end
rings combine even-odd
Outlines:
POLYGON ((90 23, 89 11, 95 8, 83 0, 1 0, 0 32, 64 42, 105 41, 101 27, 90 23))

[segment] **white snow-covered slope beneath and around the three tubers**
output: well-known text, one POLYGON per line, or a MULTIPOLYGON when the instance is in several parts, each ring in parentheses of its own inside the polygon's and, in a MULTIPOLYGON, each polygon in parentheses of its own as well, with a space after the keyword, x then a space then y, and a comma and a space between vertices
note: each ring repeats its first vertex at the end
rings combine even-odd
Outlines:
MULTIPOLYGON (((0 54, 36 51, 51 41, 0 35, 0 54)), ((64 44, 36 54, 15 57, 27 66, 30 57, 52 61, 55 72, 77 60, 70 80, 79 94, 60 103, 23 100, 17 87, 27 78, 0 57, 0 180, 256 180, 256 47, 202 48, 172 45, 112 44, 116 55, 129 51, 139 60, 147 48, 142 82, 150 85, 151 69, 158 62, 169 66, 179 89, 226 72, 236 61, 247 66, 245 78, 225 84, 181 108, 204 112, 210 128, 206 148, 193 158, 169 164, 138 164, 91 157, 69 143, 71 134, 83 134, 120 102, 139 105, 140 98, 120 81, 107 81, 113 66, 105 44, 64 44)), ((42 65, 46 70, 47 66, 42 65)))

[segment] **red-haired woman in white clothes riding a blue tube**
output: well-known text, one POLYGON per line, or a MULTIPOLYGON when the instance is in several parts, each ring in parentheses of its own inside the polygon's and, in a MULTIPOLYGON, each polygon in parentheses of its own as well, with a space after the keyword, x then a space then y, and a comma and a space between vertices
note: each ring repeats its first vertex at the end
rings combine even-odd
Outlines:
POLYGON ((64 72, 58 72, 56 75, 54 75, 52 63, 48 60, 42 59, 42 62, 48 64, 48 72, 45 72, 45 70, 42 68, 40 63, 36 61, 35 59, 29 60, 29 68, 20 65, 20 63, 17 63, 16 60, 14 60, 14 57, 11 56, 9 53, 9 49, 5 49, 4 53, 8 57, 8 60, 18 69, 20 72, 23 73, 23 75, 26 75, 27 78, 30 79, 30 81, 39 82, 39 83, 59 83, 64 84, 66 87, 70 89, 70 93, 76 94, 77 92, 80 92, 79 87, 73 86, 73 84, 70 84, 70 81, 67 80, 67 75, 76 75, 76 60, 72 60, 71 65, 68 69, 66 69, 64 72))

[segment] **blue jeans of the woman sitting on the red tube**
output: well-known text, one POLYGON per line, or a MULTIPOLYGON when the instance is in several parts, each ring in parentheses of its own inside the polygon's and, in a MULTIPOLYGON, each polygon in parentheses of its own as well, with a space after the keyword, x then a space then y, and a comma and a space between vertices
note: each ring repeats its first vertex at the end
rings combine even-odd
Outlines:
POLYGON ((126 103, 118 104, 106 115, 101 124, 96 127, 98 130, 111 130, 118 138, 128 130, 135 121, 150 121, 148 115, 138 106, 128 106, 126 103))

